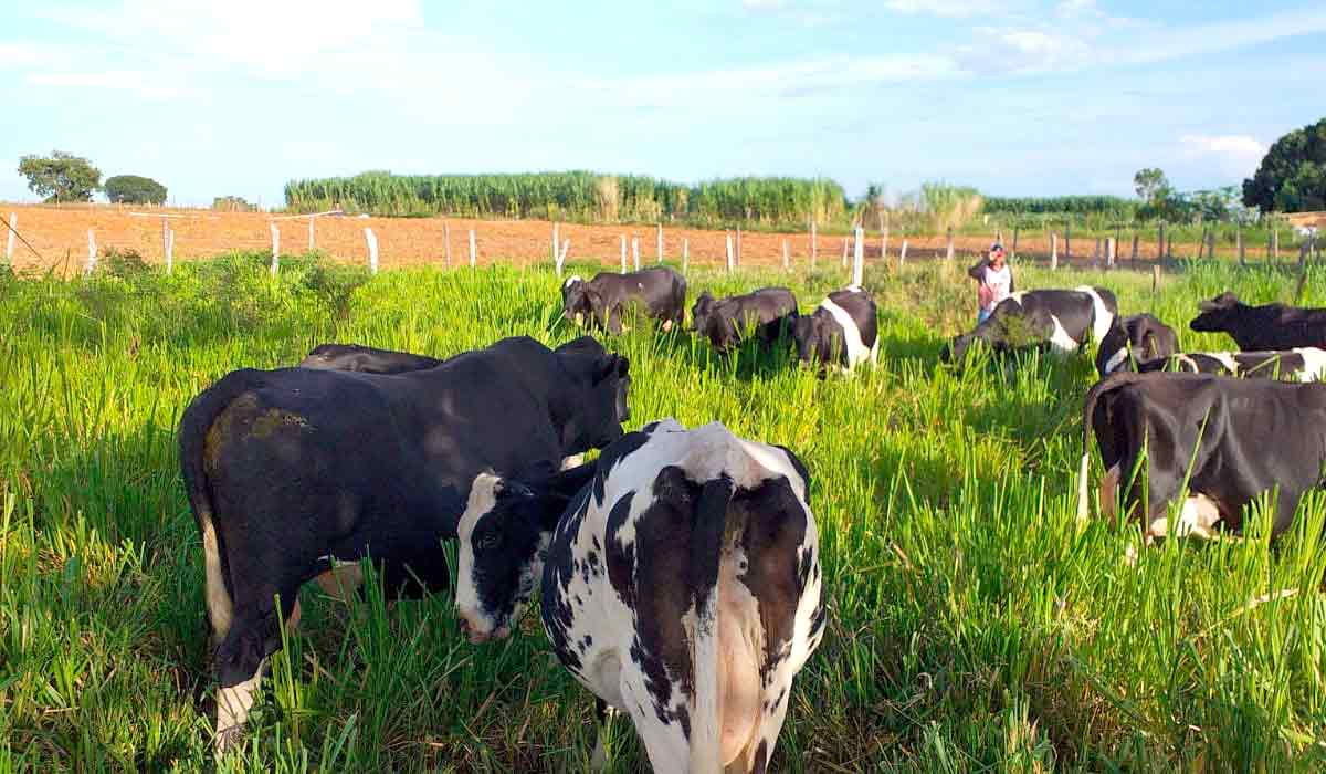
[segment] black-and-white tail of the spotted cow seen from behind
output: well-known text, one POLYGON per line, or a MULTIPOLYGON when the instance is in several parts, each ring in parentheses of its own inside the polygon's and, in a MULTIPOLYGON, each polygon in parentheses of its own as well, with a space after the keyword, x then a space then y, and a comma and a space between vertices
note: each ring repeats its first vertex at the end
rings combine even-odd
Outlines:
POLYGON ((695 706, 691 713, 692 774, 723 770, 723 676, 719 664, 719 575, 725 539, 736 524, 728 524, 728 503, 733 483, 727 474, 705 482, 695 512, 691 534, 691 583, 695 635, 691 664, 695 670, 695 706))

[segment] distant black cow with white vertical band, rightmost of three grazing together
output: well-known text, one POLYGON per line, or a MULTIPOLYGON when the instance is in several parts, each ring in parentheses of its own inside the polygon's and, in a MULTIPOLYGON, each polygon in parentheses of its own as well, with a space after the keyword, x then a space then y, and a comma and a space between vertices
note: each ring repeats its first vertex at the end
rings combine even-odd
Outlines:
POLYGON ((879 360, 879 320, 875 299, 859 285, 847 285, 829 293, 809 316, 798 317, 792 331, 797 357, 851 372, 857 364, 879 360))

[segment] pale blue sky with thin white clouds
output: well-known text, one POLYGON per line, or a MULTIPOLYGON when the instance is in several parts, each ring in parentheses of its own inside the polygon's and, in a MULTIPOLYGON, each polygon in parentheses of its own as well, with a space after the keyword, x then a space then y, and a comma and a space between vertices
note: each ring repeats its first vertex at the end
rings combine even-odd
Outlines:
POLYGON ((1170 0, 44 0, 0 28, 25 153, 182 204, 292 178, 593 169, 989 194, 1240 182, 1326 114, 1326 5, 1170 0))

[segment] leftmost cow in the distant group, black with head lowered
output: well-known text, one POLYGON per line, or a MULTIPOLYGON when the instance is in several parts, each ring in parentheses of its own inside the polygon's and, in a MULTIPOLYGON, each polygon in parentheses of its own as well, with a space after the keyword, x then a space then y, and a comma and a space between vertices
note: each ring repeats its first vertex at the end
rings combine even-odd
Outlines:
POLYGON ((622 315, 630 307, 663 320, 663 329, 686 320, 686 280, 659 266, 634 273, 599 272, 585 281, 573 276, 562 284, 562 313, 577 325, 594 323, 609 333, 621 333, 622 315))

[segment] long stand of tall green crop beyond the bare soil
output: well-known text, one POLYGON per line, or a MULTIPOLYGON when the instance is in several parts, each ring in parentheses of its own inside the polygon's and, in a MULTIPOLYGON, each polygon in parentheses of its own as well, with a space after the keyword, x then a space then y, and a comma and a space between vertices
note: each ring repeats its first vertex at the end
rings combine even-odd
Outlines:
POLYGON ((686 186, 642 175, 589 171, 395 175, 292 181, 285 204, 297 212, 330 210, 377 215, 549 218, 579 222, 691 220, 805 224, 846 212, 842 186, 829 179, 732 178, 686 186))

